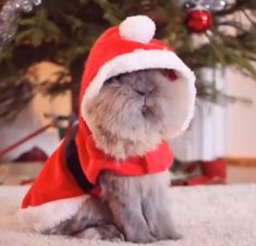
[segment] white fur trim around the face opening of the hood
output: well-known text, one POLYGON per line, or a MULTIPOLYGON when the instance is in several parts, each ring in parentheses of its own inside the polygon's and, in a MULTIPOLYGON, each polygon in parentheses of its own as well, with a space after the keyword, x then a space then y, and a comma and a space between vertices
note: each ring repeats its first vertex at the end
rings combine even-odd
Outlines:
POLYGON ((178 112, 175 116, 179 118, 179 125, 173 128, 172 138, 179 136, 188 127, 195 108, 196 89, 194 73, 172 51, 137 49, 106 62, 90 82, 81 103, 81 114, 89 128, 92 127, 86 121, 83 109, 88 100, 98 95, 103 83, 119 74, 146 69, 170 69, 175 71, 178 79, 173 82, 173 86, 176 86, 179 93, 175 96, 178 103, 173 107, 175 107, 178 112))

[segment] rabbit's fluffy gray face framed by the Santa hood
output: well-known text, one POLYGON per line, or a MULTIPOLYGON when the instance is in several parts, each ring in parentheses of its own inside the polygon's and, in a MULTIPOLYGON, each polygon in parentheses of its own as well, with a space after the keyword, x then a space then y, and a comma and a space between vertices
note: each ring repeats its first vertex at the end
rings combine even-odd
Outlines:
POLYGON ((126 73, 105 82, 84 109, 97 147, 118 159, 156 148, 173 128, 174 93, 164 70, 126 73))

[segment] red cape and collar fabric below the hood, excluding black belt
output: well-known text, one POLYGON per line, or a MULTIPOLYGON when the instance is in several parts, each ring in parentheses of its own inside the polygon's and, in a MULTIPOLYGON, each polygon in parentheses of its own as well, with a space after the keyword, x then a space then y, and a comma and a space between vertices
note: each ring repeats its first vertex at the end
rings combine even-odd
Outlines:
MULTIPOLYGON (((88 137, 85 143, 81 143, 81 140, 83 142, 83 138, 81 139, 80 135, 77 135, 78 144, 85 144, 84 146, 86 146, 85 152, 80 156, 82 169, 93 184, 96 184, 99 173, 103 170, 109 170, 120 175, 143 175, 162 172, 173 161, 173 155, 166 142, 145 157, 129 158, 122 163, 117 163, 113 158, 97 149, 92 138, 88 137)), ((46 162, 42 172, 26 194, 22 208, 39 206, 84 194, 65 165, 63 151, 64 142, 46 162)), ((99 190, 96 187, 92 195, 97 196, 98 194, 99 190)))

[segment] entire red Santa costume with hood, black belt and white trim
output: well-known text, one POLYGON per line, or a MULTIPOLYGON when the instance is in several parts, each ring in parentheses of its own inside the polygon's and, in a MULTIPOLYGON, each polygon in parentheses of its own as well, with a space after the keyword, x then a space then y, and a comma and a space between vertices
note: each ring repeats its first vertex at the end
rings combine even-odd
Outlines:
POLYGON ((107 29, 95 42, 81 85, 78 125, 48 159, 23 200, 20 218, 28 226, 45 231, 72 218, 96 194, 101 171, 146 175, 170 168, 173 156, 167 142, 143 157, 121 162, 105 155, 96 148, 83 112, 87 100, 97 97, 108 78, 138 70, 164 69, 170 70, 176 91, 173 107, 179 127, 173 130, 172 137, 187 128, 194 112, 195 76, 172 48, 154 39, 155 30, 149 17, 131 16, 107 29))

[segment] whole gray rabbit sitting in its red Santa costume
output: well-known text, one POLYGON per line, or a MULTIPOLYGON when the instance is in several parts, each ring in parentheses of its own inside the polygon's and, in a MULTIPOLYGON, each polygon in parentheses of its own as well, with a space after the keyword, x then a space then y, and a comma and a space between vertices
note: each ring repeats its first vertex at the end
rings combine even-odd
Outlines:
POLYGON ((90 239, 181 237, 170 210, 173 157, 167 140, 188 126, 195 77, 153 39, 154 32, 150 19, 133 16, 96 42, 82 82, 78 125, 24 198, 26 224, 90 239))

